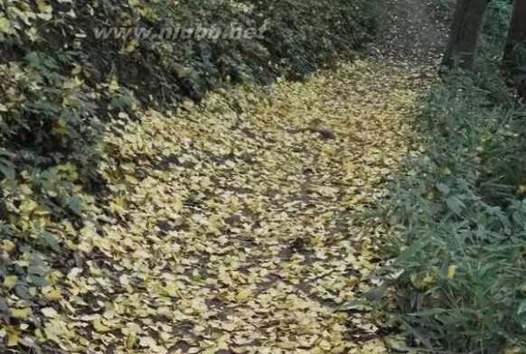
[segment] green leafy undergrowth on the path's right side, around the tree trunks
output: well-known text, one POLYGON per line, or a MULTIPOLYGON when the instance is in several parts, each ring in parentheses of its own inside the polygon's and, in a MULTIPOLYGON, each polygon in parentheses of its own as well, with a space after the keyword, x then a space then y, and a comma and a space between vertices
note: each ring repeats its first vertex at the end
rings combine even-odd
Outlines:
POLYGON ((386 210, 397 320, 432 352, 526 346, 526 116, 499 69, 510 7, 490 4, 477 71, 448 72, 421 99, 425 152, 386 210))

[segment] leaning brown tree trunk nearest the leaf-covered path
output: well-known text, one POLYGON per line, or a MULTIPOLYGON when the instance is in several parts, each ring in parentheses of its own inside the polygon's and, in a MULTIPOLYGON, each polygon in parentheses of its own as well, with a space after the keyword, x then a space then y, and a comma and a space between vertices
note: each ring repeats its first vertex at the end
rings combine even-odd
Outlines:
MULTIPOLYGON (((521 0, 524 1, 524 0, 521 0)), ((449 68, 473 70, 488 0, 457 0, 444 61, 449 68)))

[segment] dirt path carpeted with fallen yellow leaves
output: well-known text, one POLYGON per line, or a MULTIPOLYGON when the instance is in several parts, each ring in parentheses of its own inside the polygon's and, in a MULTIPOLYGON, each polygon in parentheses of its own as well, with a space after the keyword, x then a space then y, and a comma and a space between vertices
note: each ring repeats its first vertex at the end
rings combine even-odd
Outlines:
POLYGON ((382 226, 356 216, 417 154, 409 117, 437 58, 381 47, 108 128, 101 227, 64 264, 73 296, 46 314, 47 338, 105 354, 387 352, 379 318, 337 308, 381 282, 382 226))

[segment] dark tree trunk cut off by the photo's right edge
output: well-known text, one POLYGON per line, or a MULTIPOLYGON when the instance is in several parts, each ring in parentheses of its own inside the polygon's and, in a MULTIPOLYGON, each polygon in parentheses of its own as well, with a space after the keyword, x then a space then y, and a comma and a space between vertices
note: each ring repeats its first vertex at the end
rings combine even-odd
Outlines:
POLYGON ((508 32, 508 40, 504 49, 503 63, 508 70, 517 69, 519 62, 519 46, 526 41, 526 0, 515 0, 512 23, 508 32))

